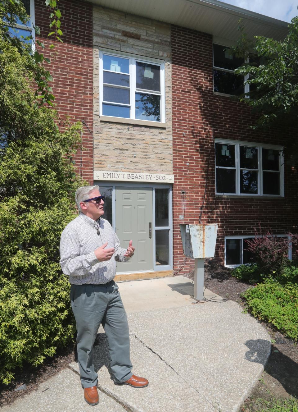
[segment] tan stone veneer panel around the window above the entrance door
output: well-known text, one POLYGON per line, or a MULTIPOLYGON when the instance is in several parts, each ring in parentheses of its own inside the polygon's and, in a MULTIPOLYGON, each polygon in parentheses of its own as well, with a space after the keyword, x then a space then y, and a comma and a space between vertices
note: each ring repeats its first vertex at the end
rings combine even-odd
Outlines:
POLYGON ((93 7, 94 170, 172 174, 170 25, 93 7), (166 128, 100 121, 99 51, 165 61, 166 128))

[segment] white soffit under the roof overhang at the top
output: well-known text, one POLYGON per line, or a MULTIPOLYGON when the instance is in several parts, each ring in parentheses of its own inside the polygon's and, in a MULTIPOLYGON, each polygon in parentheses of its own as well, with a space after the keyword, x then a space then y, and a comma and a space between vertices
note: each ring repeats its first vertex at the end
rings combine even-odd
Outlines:
POLYGON ((120 12, 147 17, 213 36, 237 40, 237 21, 242 17, 249 37, 266 36, 282 40, 289 23, 250 12, 217 0, 91 0, 92 3, 120 12))

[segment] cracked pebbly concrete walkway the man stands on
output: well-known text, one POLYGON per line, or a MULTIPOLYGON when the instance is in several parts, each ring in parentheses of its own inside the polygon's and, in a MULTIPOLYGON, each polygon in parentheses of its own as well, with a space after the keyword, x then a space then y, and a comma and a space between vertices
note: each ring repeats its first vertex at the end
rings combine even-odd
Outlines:
MULTIPOLYGON (((134 389, 114 385, 107 339, 95 346, 100 403, 83 398, 78 365, 61 371, 3 412, 233 412, 240 408, 270 354, 265 329, 233 301, 193 304, 183 276, 119 283, 128 313, 133 373, 149 379, 134 389)), ((212 292, 205 290, 210 299, 212 292)))

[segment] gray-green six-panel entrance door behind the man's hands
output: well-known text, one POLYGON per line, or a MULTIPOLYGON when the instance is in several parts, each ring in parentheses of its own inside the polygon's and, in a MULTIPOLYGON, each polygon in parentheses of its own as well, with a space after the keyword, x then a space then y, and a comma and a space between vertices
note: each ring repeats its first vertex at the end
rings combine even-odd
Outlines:
POLYGON ((152 216, 151 187, 116 187, 116 234, 121 247, 130 240, 135 246, 129 262, 117 262, 117 273, 153 271, 152 216))

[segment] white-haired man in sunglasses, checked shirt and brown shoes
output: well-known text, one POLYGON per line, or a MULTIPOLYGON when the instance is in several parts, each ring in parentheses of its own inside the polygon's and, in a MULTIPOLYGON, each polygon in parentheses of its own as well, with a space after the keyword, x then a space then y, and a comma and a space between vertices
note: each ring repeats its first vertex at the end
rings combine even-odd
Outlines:
POLYGON ((79 187, 75 201, 79 215, 62 232, 60 265, 71 283, 70 300, 77 325, 77 352, 89 405, 99 403, 94 370, 93 344, 102 323, 109 343, 111 370, 115 384, 135 388, 148 386, 147 379, 132 374, 129 357, 129 331, 126 312, 114 282, 116 262, 126 262, 135 248, 127 249, 120 242, 109 222, 102 219, 105 197, 99 187, 79 187))

